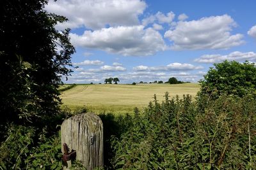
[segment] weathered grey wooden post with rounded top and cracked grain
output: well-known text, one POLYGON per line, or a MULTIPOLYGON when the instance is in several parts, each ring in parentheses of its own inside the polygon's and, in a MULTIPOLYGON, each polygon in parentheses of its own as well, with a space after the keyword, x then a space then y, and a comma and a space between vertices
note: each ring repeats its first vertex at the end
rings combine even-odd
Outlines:
MULTIPOLYGON (((86 169, 103 167, 103 124, 95 113, 82 113, 65 120, 61 125, 61 151, 63 144, 76 150, 76 160, 86 169)), ((69 169, 71 160, 63 169, 69 169)))

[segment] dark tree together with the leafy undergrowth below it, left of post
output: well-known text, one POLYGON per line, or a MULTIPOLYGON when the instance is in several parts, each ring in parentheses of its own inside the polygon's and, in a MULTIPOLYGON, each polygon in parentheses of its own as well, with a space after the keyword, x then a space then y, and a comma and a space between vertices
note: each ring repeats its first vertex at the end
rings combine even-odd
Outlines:
POLYGON ((0 169, 61 169, 58 86, 75 49, 47 2, 1 1, 0 169))

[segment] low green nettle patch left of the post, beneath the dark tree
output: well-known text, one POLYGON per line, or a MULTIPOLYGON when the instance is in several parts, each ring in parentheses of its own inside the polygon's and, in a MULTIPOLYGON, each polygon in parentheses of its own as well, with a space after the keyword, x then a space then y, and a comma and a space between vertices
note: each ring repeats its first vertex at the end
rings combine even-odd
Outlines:
POLYGON ((35 127, 10 125, 1 143, 0 169, 62 169, 58 134, 47 137, 35 127))

